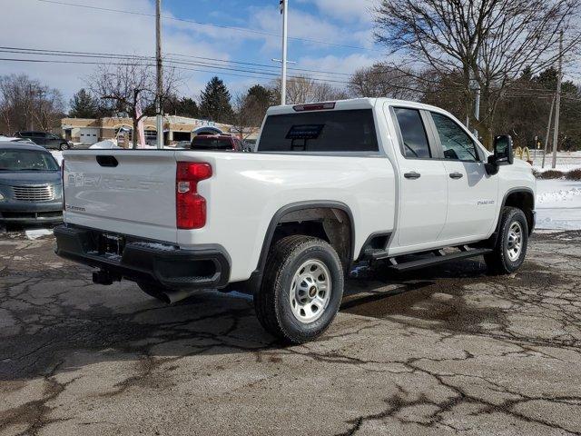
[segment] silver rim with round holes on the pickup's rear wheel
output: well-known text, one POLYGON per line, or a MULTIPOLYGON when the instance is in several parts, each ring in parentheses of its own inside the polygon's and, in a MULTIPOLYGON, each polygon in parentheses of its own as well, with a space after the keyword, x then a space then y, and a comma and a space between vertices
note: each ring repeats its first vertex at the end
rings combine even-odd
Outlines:
POLYGON ((331 282, 327 266, 310 259, 295 272, 289 293, 294 317, 303 323, 317 321, 330 302, 331 282))

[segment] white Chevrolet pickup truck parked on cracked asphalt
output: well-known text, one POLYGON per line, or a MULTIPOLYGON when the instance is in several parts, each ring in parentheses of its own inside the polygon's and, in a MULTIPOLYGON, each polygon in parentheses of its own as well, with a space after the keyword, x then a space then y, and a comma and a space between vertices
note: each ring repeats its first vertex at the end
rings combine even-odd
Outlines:
POLYGON ((484 255, 523 263, 535 179, 509 136, 490 154, 451 114, 389 99, 272 107, 257 153, 64 154, 56 253, 175 302, 253 294, 262 326, 307 342, 330 325, 355 263, 398 271, 484 255))

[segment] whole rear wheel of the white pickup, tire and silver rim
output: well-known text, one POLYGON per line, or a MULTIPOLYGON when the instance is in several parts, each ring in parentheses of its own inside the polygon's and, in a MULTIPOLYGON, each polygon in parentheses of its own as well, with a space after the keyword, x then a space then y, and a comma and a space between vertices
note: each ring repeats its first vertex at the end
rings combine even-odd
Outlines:
POLYGON ((312 341, 327 330, 343 297, 343 268, 329 243, 289 236, 269 253, 261 288, 254 296, 259 321, 284 342, 312 341))

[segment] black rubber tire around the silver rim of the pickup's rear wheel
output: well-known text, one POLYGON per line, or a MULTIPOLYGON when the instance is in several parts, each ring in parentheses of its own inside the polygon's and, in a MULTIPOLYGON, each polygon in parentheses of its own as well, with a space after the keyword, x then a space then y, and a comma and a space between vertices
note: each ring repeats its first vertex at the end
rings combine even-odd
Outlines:
MULTIPOLYGON (((323 276, 321 274, 317 280, 323 276)), ((304 235, 281 239, 271 247, 260 290, 254 295, 254 307, 262 327, 283 342, 304 343, 314 340, 327 330, 339 312, 343 297, 343 277, 339 255, 329 243, 304 235), (297 302, 291 302, 291 286, 295 282, 295 274, 300 274, 300 268, 310 262, 322 264, 327 269, 330 292, 326 296, 326 306, 314 315, 319 318, 313 322, 301 322, 297 317, 299 315, 293 313, 293 307, 297 310, 297 302)), ((319 282, 315 284, 318 286, 319 282)), ((315 298, 319 292, 317 288, 315 298)))

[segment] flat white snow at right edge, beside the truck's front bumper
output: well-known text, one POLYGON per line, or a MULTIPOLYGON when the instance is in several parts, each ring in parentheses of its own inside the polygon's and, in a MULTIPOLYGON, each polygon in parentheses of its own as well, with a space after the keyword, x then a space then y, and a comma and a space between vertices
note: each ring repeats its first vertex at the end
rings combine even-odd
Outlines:
POLYGON ((537 181, 537 228, 581 230, 581 182, 537 181))

